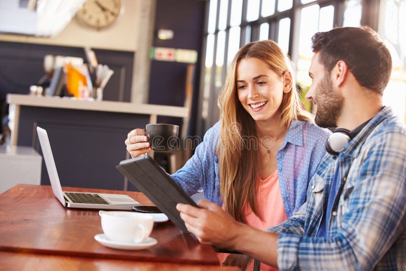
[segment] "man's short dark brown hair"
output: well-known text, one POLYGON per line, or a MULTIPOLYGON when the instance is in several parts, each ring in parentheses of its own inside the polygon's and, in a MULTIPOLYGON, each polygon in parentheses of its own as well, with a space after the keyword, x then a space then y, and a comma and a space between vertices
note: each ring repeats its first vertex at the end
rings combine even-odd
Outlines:
POLYGON ((328 73, 343 60, 362 87, 382 94, 389 82, 392 58, 377 32, 368 26, 317 32, 312 37, 312 49, 320 53, 319 61, 328 73))

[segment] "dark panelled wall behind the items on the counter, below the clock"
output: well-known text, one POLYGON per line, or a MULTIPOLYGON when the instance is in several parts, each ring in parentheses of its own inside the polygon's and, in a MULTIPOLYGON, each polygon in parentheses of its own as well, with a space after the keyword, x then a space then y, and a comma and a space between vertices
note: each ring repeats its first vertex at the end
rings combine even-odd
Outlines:
MULTIPOLYGON (((107 64, 114 71, 103 99, 130 101, 134 54, 98 49, 94 49, 94 52, 99 63, 107 64), (123 91, 121 95, 120 89, 123 91)), ((46 54, 82 57, 86 62, 83 48, 0 42, 0 103, 7 93, 29 92, 29 86, 36 84, 44 75, 46 54)))

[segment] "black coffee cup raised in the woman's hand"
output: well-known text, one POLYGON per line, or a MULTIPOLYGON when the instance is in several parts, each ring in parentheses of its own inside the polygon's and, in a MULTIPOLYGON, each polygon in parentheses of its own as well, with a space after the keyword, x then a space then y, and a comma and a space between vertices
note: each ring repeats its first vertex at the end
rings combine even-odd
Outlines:
POLYGON ((147 137, 151 149, 157 151, 172 151, 178 140, 179 126, 173 124, 147 124, 147 137))

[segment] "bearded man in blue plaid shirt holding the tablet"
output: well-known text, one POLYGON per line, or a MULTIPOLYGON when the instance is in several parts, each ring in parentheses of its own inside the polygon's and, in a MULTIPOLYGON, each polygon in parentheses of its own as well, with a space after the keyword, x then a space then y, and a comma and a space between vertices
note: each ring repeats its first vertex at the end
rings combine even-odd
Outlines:
POLYGON ((281 270, 406 270, 406 128, 382 105, 389 51, 368 27, 319 32, 312 42, 307 98, 317 105, 316 123, 340 127, 348 143, 334 152, 337 142, 329 142, 332 154, 307 201, 268 231, 235 222, 206 200, 201 209, 178 210, 201 243, 281 270))

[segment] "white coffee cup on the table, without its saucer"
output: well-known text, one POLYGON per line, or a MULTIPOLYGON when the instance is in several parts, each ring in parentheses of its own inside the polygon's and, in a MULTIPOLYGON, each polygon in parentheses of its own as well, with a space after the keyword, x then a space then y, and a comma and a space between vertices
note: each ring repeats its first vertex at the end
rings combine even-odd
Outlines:
POLYGON ((104 234, 115 242, 143 242, 154 227, 154 218, 149 214, 125 211, 99 211, 98 214, 104 234))

